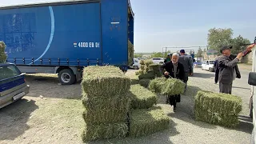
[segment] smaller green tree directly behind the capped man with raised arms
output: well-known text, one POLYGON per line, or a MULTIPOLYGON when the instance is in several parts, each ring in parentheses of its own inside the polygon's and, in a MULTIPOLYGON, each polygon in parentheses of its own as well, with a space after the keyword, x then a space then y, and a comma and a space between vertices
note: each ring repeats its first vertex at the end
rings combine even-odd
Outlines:
POLYGON ((250 43, 250 40, 247 38, 242 38, 241 35, 239 35, 237 38, 234 38, 232 40, 232 46, 233 48, 231 49, 232 54, 238 54, 242 52, 242 50, 246 49, 245 44, 250 43))

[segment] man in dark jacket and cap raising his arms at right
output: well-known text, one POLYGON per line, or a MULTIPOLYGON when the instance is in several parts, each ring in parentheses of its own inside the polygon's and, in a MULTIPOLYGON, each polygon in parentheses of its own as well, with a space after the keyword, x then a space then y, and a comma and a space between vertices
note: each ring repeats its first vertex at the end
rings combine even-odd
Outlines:
POLYGON ((222 55, 218 58, 218 82, 219 92, 231 94, 234 78, 241 78, 238 70, 238 62, 244 55, 239 53, 237 56, 231 55, 232 46, 222 46, 220 52, 222 55))

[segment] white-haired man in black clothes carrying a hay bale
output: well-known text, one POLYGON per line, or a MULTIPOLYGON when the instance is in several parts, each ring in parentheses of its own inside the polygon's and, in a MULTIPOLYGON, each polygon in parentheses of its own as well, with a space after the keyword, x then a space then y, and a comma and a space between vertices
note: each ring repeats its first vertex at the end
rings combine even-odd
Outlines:
MULTIPOLYGON (((179 55, 178 53, 172 54, 171 61, 164 63, 161 67, 161 73, 163 70, 166 70, 164 76, 166 78, 177 78, 185 81, 185 71, 182 66, 182 63, 178 62, 179 55)), ((174 106, 174 112, 176 111, 176 103, 181 101, 181 95, 168 95, 167 102, 170 103, 170 106, 174 106)))

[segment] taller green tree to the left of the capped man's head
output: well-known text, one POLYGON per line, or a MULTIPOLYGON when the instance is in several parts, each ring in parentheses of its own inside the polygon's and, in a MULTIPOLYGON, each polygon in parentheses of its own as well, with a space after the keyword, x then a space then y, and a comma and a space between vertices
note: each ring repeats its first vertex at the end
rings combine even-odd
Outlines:
POLYGON ((230 46, 232 43, 232 29, 213 28, 208 31, 208 46, 210 50, 217 50, 219 52, 220 47, 230 46))

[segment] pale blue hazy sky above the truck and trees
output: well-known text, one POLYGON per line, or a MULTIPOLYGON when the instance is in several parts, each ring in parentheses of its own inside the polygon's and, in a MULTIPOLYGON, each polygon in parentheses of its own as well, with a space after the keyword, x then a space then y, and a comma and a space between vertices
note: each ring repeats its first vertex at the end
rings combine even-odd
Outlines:
MULTIPOLYGON (((0 0, 0 6, 58 0, 0 0)), ((135 14, 135 53, 162 47, 206 46, 211 28, 231 28, 251 42, 256 37, 256 0, 130 0, 135 14)), ((177 51, 179 49, 169 49, 177 51)), ((197 48, 195 48, 197 50, 197 48)))

